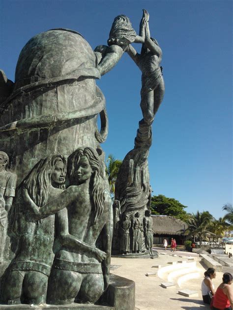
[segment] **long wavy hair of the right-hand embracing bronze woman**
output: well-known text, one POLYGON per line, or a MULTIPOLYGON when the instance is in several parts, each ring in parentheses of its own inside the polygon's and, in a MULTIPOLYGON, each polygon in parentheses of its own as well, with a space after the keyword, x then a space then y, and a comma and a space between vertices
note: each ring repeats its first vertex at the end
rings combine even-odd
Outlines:
POLYGON ((98 222, 104 210, 104 171, 97 152, 90 147, 80 147, 68 158, 68 177, 70 184, 76 180, 76 171, 79 168, 79 161, 82 156, 86 156, 93 170, 89 182, 90 202, 93 209, 93 224, 98 222))

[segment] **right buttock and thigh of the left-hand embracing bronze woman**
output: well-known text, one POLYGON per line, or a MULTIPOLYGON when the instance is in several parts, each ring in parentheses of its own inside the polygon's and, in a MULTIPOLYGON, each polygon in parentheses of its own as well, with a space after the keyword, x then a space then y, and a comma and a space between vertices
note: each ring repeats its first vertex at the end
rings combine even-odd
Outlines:
POLYGON ((38 271, 27 271, 23 282, 25 303, 39 305, 46 302, 48 277, 38 271))

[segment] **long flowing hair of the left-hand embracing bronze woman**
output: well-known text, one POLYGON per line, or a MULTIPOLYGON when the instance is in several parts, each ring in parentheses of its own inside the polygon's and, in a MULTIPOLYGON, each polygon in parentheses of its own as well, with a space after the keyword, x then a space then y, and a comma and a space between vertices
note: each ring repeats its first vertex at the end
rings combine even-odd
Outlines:
MULTIPOLYGON (((62 155, 53 155, 41 159, 24 181, 24 187, 28 189, 30 198, 38 207, 42 207, 47 202, 49 186, 51 185, 51 174, 58 161, 64 163, 63 173, 66 175, 66 158, 62 155)), ((57 184, 56 187, 65 189, 64 184, 57 184)))

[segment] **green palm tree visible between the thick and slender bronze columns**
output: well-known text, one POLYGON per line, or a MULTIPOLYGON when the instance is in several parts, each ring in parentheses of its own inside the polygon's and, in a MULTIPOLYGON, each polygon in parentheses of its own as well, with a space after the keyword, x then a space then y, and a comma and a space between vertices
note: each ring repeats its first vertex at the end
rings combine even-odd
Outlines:
POLYGON ((121 160, 115 159, 112 154, 108 155, 108 159, 106 160, 106 174, 108 176, 110 192, 112 195, 115 193, 115 183, 117 181, 117 174, 121 164, 121 160))

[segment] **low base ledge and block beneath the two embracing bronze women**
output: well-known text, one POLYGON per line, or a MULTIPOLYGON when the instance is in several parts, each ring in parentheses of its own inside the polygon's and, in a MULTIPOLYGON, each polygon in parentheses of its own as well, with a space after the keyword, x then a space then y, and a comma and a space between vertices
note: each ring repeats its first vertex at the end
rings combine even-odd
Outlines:
POLYGON ((132 280, 116 275, 110 275, 110 284, 107 291, 102 296, 106 303, 101 305, 0 305, 0 310, 134 310, 135 309, 135 283, 132 280))

